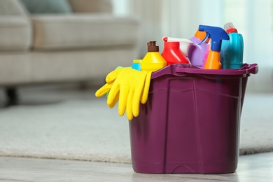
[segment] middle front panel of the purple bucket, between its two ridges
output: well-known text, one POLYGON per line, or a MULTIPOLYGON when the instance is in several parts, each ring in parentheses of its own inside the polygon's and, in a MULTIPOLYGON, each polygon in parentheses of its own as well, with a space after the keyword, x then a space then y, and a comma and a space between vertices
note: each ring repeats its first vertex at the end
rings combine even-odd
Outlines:
POLYGON ((166 173, 200 172, 194 83, 194 74, 170 79, 166 173))

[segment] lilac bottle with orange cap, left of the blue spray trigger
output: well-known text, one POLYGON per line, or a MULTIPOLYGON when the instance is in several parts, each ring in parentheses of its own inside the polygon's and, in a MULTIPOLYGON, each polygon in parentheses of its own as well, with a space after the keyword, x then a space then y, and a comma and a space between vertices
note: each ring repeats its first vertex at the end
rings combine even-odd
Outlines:
POLYGON ((207 44, 209 43, 209 39, 202 44, 199 44, 206 37, 206 32, 197 30, 195 32, 195 36, 190 38, 190 41, 193 42, 193 45, 190 46, 188 52, 188 58, 190 62, 199 68, 203 66, 204 54, 207 51, 207 44))

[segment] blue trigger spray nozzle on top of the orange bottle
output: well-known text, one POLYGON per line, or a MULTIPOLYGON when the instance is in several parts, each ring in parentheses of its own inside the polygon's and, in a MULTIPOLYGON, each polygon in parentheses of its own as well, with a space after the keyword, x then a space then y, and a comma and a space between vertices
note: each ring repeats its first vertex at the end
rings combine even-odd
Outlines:
POLYGON ((200 31, 205 31, 207 33, 204 40, 199 43, 202 44, 207 41, 207 38, 211 38, 211 50, 220 52, 222 40, 230 40, 228 33, 221 27, 212 27, 207 25, 199 25, 200 31))

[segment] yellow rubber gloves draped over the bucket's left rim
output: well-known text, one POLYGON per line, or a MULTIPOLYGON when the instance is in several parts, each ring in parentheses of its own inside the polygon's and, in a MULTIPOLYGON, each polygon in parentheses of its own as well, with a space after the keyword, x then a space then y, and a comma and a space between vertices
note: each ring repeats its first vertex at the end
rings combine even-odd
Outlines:
POLYGON ((109 90, 107 104, 110 108, 118 103, 118 113, 127 118, 139 116, 139 102, 145 104, 151 81, 151 71, 137 71, 131 68, 116 69, 106 76, 106 84, 96 92, 101 97, 109 90))

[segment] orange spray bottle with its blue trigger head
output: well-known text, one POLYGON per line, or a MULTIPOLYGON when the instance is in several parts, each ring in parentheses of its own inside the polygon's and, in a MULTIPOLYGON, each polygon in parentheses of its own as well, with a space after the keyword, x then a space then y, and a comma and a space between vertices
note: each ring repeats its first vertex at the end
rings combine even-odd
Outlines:
POLYGON ((211 50, 209 50, 209 55, 204 69, 221 69, 221 44, 222 40, 230 39, 228 33, 220 27, 212 27, 207 25, 200 25, 199 30, 207 33, 206 37, 200 44, 207 41, 207 38, 211 38, 211 50))

